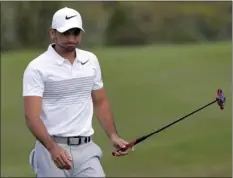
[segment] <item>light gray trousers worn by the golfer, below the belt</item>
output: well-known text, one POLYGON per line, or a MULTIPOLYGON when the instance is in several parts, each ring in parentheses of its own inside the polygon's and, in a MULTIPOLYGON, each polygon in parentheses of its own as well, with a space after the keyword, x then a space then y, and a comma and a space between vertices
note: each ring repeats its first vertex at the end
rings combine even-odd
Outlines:
POLYGON ((102 150, 93 141, 78 146, 59 145, 71 155, 72 169, 57 168, 48 150, 37 141, 29 159, 37 177, 105 177, 100 164, 102 150))

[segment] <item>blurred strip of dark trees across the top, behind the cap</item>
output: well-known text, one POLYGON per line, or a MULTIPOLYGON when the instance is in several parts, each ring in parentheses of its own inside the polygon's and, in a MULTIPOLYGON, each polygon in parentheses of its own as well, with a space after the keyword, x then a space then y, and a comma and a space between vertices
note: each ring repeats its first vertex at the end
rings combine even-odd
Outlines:
POLYGON ((80 12, 82 46, 185 43, 232 38, 232 2, 1 2, 1 50, 47 47, 53 14, 80 12))

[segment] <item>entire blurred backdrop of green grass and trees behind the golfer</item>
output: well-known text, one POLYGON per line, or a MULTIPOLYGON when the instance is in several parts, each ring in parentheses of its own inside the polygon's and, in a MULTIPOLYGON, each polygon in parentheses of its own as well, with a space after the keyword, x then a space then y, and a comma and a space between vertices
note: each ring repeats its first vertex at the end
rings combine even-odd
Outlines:
POLYGON ((34 176, 35 139, 24 122, 22 76, 47 49, 52 15, 78 10, 120 135, 130 141, 215 99, 115 158, 96 118, 94 140, 108 177, 232 176, 232 2, 1 2, 1 177, 34 176), (95 18, 93 18, 95 17, 95 18), (118 47, 117 47, 118 46, 118 47))

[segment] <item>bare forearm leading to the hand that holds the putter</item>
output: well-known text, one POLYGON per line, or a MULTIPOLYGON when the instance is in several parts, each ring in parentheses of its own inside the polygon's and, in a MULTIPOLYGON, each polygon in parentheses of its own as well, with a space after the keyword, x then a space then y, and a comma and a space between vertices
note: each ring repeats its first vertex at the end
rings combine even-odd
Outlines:
POLYGON ((95 105, 95 113, 101 126, 104 128, 109 138, 117 135, 113 114, 107 100, 104 100, 95 105))

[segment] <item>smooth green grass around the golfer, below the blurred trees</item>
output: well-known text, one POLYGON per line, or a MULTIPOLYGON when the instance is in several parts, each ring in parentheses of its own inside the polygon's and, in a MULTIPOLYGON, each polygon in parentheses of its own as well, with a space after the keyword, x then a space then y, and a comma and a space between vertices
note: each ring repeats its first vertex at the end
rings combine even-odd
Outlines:
MULTIPOLYGON (((111 156, 112 146, 94 119, 94 139, 103 149, 107 176, 228 176, 231 173, 231 43, 93 50, 120 135, 126 140, 162 127, 215 99, 217 105, 137 145, 129 156, 111 156)), ((28 156, 34 138, 24 123, 22 75, 40 51, 10 52, 1 60, 1 174, 33 176, 28 156)))

